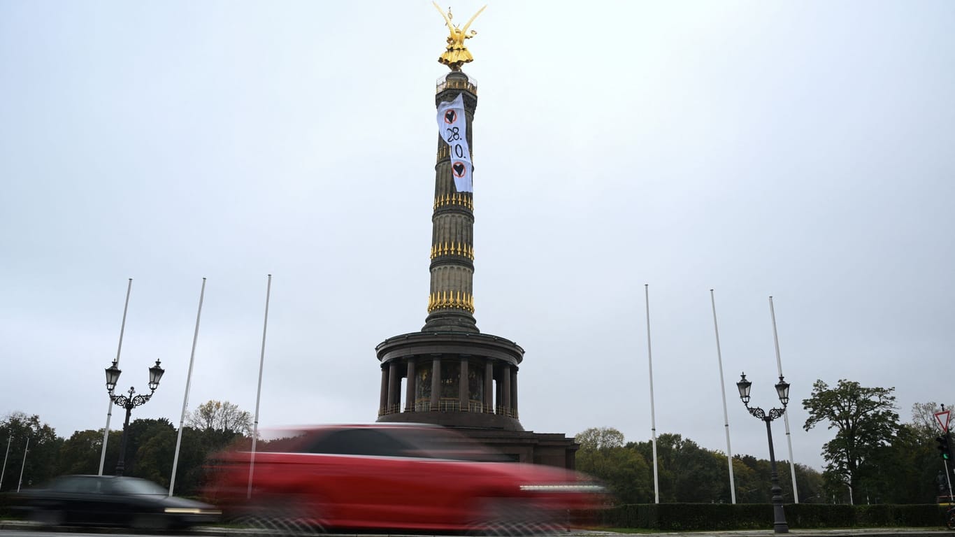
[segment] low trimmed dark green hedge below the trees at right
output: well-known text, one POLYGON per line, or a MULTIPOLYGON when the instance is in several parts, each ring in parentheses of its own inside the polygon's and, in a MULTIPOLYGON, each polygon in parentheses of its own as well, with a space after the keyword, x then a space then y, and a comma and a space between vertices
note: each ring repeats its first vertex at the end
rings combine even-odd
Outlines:
MULTIPOLYGON (((937 527, 944 526, 941 505, 821 505, 784 507, 794 529, 818 527, 937 527)), ((582 514, 604 527, 641 527, 664 531, 772 529, 771 504, 649 504, 619 505, 582 514)))

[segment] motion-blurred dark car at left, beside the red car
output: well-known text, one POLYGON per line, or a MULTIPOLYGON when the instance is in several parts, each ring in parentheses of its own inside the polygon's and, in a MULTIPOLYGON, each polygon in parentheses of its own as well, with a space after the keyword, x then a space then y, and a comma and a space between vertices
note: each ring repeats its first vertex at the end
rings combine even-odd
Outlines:
POLYGON ((167 496, 157 483, 118 476, 60 476, 14 496, 27 518, 48 526, 171 529, 219 520, 214 505, 167 496))

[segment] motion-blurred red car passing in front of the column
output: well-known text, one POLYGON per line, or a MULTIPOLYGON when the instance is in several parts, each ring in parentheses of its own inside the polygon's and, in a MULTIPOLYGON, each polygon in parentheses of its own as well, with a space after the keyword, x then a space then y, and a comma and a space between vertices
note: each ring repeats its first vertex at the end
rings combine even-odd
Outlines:
POLYGON ((332 425, 277 438, 254 458, 233 450, 210 462, 205 501, 275 529, 493 533, 556 529, 568 510, 605 504, 604 487, 581 473, 502 462, 438 426, 332 425))

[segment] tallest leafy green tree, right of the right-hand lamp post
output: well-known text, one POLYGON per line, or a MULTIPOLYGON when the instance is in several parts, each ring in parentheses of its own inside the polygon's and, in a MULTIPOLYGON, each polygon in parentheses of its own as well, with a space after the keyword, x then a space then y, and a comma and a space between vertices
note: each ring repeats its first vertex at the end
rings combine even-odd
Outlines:
POLYGON ((836 438, 822 445, 825 475, 856 491, 866 477, 878 474, 874 458, 889 445, 899 430, 895 388, 865 388, 859 382, 841 379, 835 388, 822 380, 813 383, 811 397, 802 400, 809 418, 806 431, 828 422, 836 438))

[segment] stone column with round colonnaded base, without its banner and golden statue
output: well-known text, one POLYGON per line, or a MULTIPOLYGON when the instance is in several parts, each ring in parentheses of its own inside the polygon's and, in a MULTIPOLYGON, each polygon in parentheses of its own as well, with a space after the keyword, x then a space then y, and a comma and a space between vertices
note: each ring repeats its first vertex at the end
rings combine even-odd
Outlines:
MULTIPOLYGON (((458 95, 473 148, 474 80, 460 71, 440 78, 435 106, 458 95)), ((375 348, 381 362, 378 421, 454 427, 515 461, 572 468, 578 447, 573 439, 525 431, 520 424, 518 374, 524 350, 477 329, 474 222, 473 194, 456 190, 450 147, 438 137, 428 316, 420 332, 395 335, 375 348)))

